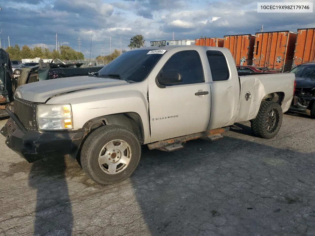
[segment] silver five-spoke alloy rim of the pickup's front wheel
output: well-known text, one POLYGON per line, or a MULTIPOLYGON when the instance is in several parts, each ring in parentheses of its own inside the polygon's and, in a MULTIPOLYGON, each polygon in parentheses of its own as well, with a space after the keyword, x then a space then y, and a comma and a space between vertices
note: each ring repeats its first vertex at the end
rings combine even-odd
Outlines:
POLYGON ((115 139, 103 146, 98 161, 102 171, 115 175, 127 168, 130 159, 130 145, 124 140, 115 139))

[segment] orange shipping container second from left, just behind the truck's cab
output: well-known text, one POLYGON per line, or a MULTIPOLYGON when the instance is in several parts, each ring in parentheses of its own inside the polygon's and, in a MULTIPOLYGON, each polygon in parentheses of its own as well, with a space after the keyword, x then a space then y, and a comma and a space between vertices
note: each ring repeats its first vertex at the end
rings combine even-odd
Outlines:
POLYGON ((255 35, 224 36, 224 48, 228 48, 236 65, 252 65, 255 35))

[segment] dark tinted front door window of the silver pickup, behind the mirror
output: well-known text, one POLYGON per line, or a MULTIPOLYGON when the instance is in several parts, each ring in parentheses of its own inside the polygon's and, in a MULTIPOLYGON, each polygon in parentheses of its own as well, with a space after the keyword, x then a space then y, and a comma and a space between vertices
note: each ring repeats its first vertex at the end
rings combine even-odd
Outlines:
POLYGON ((197 51, 181 51, 173 54, 164 64, 160 73, 166 70, 177 70, 180 73, 182 82, 176 83, 176 85, 204 82, 203 69, 197 51))

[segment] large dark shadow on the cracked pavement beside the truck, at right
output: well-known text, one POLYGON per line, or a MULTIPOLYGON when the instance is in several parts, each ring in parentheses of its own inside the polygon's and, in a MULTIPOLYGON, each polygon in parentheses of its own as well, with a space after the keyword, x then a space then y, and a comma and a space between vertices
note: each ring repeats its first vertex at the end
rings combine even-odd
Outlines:
POLYGON ((192 140, 173 153, 143 148, 130 179, 151 235, 303 235, 315 216, 313 156, 192 140))

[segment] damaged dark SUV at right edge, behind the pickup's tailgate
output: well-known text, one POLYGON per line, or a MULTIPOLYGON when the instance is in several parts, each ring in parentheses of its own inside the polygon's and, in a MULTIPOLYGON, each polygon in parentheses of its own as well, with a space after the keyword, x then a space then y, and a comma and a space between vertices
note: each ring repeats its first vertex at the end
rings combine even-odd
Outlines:
POLYGON ((315 119, 315 62, 296 66, 289 73, 295 74, 296 87, 290 111, 307 113, 315 119))

